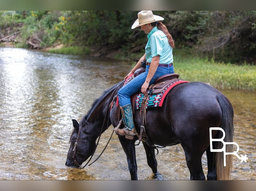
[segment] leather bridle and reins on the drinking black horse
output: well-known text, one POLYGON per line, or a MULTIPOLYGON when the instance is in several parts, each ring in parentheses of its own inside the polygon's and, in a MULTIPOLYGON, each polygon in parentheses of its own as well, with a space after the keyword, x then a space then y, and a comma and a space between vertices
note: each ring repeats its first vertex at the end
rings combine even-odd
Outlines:
MULTIPOLYGON (((117 88, 120 87, 121 84, 123 84, 123 82, 124 82, 124 81, 120 82, 120 83, 117 85, 117 87, 114 89, 114 91, 112 92, 112 95, 111 95, 111 97, 110 97, 110 99, 109 99, 108 108, 109 108, 109 106, 110 106, 110 103, 111 103, 112 99, 115 98, 115 97, 113 98, 113 95, 114 95, 115 91, 117 90, 117 88)), ((107 111, 109 111, 109 109, 107 109, 107 111)), ((109 112, 110 112, 110 111, 109 111, 109 112)), ((100 138, 101 138, 101 134, 103 133, 104 124, 105 124, 105 121, 106 121, 107 116, 109 115, 109 112, 106 112, 106 114, 105 114, 105 116, 104 116, 104 120, 103 120, 103 124, 102 124, 102 127, 101 127, 100 136, 99 136, 99 138, 98 138, 98 141, 97 141, 97 144, 96 144, 96 146, 95 146, 95 148, 94 148, 94 151, 93 151, 93 153, 92 153, 92 155, 91 155, 89 161, 88 161, 83 167, 77 162, 76 157, 75 157, 75 155, 76 155, 76 149, 77 149, 77 145, 78 145, 78 139, 79 139, 80 132, 81 132, 81 128, 82 128, 82 125, 79 124, 79 129, 78 129, 78 133, 77 133, 77 139, 76 139, 76 142, 75 142, 75 144, 74 144, 73 156, 72 156, 73 162, 74 162, 74 164, 75 164, 77 167, 79 167, 79 168, 85 168, 86 166, 92 165, 96 160, 98 160, 98 159, 100 158, 100 156, 102 155, 102 153, 103 153, 103 152, 105 151, 105 149, 107 148, 108 143, 109 143, 109 141, 110 141, 110 139, 111 139, 111 137, 112 137, 112 135, 113 135, 113 133, 114 133, 114 130, 113 130, 113 132, 112 132, 112 134, 111 134, 111 136, 110 136, 110 138, 109 138, 109 140, 108 140, 108 142, 107 142, 105 148, 104 148, 103 151, 101 152, 101 154, 100 154, 92 163, 90 163, 90 164, 88 165, 88 163, 91 161, 91 159, 92 159, 92 157, 93 157, 93 155, 94 155, 94 153, 95 153, 95 151, 96 151, 96 148, 97 148, 97 146, 98 146, 98 144, 99 144, 99 141, 100 141, 100 138)), ((89 117, 90 117, 90 115, 87 117, 87 120, 88 120, 89 117)), ((109 122, 109 117, 108 117, 107 124, 108 124, 108 122, 109 122)))

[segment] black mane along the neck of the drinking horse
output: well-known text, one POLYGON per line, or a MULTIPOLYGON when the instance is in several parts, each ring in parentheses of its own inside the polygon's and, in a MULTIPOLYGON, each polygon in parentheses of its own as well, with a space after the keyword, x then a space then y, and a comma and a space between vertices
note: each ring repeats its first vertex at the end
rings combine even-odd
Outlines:
MULTIPOLYGON (((117 88, 118 86, 120 86, 122 82, 119 82, 116 85, 113 85, 111 88, 109 88, 108 90, 104 91, 104 93, 98 98, 95 99, 91 108, 89 109, 89 111, 87 112, 86 115, 83 116, 83 118, 80 120, 80 125, 85 126, 85 124, 88 124, 87 120, 88 117, 91 115, 91 113, 94 111, 95 108, 97 108, 99 106, 99 104, 107 97, 109 96, 109 94, 112 94, 112 92, 115 90, 115 88, 117 88)), ((73 130, 71 136, 75 133, 75 129, 73 130)))

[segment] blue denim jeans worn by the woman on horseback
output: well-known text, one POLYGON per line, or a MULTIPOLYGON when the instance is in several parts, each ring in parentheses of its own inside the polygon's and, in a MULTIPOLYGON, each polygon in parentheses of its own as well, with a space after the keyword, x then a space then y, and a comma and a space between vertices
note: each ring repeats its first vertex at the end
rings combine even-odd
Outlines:
MULTIPOLYGON (((121 107, 131 104, 131 95, 139 92, 141 90, 141 86, 144 84, 149 71, 149 66, 146 66, 146 71, 142 74, 136 76, 132 79, 129 83, 123 86, 117 93, 119 104, 121 107)), ((174 73, 173 66, 166 68, 166 67, 157 67, 157 70, 149 82, 149 86, 155 82, 155 80, 165 74, 172 74, 174 73)))

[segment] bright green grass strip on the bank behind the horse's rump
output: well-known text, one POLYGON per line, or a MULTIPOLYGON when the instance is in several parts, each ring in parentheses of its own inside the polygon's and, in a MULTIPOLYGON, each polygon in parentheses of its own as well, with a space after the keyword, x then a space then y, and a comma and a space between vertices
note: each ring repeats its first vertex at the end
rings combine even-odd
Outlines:
POLYGON ((218 89, 256 91, 256 66, 224 64, 177 53, 174 71, 179 78, 200 81, 218 89))

